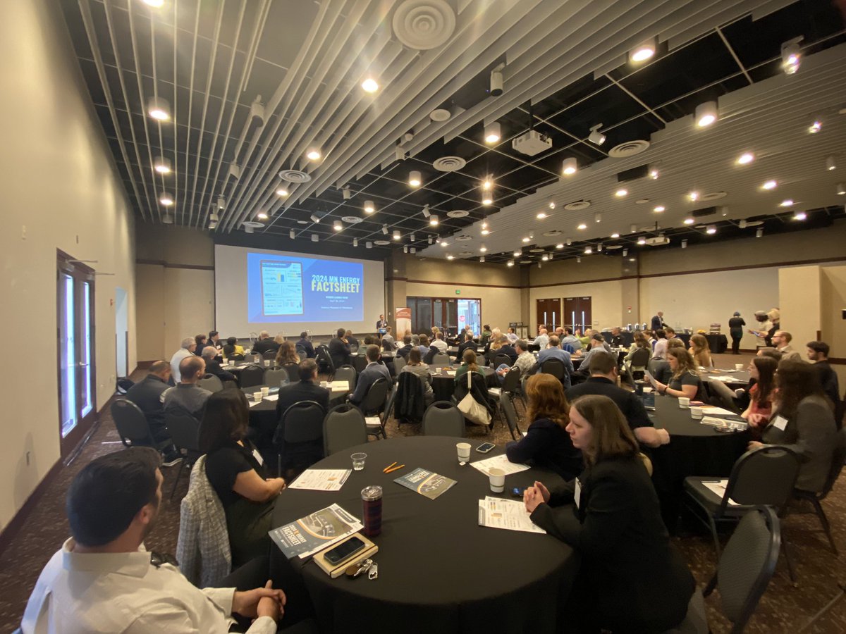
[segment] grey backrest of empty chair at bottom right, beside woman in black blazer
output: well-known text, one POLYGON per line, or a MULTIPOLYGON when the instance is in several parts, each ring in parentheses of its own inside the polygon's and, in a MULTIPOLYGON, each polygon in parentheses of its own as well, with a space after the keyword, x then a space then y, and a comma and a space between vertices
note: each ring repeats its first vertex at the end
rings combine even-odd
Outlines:
POLYGON ((776 571, 781 530, 772 508, 762 506, 740 520, 717 564, 722 612, 742 631, 776 571))

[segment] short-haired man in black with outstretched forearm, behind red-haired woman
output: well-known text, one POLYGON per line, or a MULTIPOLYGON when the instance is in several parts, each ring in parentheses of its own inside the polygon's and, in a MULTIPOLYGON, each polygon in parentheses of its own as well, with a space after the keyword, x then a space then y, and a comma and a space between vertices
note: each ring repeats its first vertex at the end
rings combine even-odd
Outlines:
POLYGON ((629 390, 618 387, 617 358, 612 354, 597 352, 591 359, 591 378, 566 391, 569 402, 580 396, 599 394, 610 398, 619 408, 629 424, 629 429, 640 445, 657 447, 666 445, 670 435, 666 429, 655 429, 643 402, 629 390))

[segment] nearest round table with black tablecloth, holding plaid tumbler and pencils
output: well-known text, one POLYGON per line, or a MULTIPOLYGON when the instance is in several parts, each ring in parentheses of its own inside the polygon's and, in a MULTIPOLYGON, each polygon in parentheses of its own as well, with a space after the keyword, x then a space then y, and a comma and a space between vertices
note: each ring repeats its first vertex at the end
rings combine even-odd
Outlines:
MULTIPOLYGON (((365 451, 363 471, 354 471, 340 491, 287 489, 277 499, 273 526, 294 522, 338 503, 361 517, 360 491, 382 486, 382 533, 374 561, 379 578, 330 578, 313 562, 300 568, 322 631, 552 632, 573 582, 578 558, 549 535, 479 526, 478 500, 502 497, 512 487, 539 479, 560 484, 552 473, 530 469, 505 478, 506 493, 493 494, 484 473, 460 467, 455 444, 462 439, 415 436, 350 447, 312 468, 349 468, 349 455, 365 451), (392 462, 405 464, 382 473, 392 462), (457 481, 430 500, 393 482, 423 467, 457 481)), ((471 461, 496 456, 497 447, 471 461)), ((282 551, 272 546, 278 566, 282 551)), ((300 560, 291 560, 294 567, 300 560)))

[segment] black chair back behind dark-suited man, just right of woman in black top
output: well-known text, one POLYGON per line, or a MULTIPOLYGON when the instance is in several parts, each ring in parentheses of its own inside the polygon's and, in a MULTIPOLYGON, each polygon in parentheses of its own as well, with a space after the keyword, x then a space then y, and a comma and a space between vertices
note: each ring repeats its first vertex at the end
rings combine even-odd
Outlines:
POLYGON ((273 433, 277 473, 298 473, 323 457, 323 418, 326 410, 315 401, 295 402, 286 409, 273 433))

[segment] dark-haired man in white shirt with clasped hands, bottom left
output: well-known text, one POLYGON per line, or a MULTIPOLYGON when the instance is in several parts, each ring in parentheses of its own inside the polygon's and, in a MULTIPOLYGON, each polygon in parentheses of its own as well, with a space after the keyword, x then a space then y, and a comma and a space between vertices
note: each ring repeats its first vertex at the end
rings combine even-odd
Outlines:
MULTIPOLYGON (((224 634, 236 622, 235 614, 255 618, 250 634, 277 631, 286 599, 282 590, 266 582, 266 566, 250 566, 249 576, 259 577, 250 586, 255 589, 201 590, 183 576, 172 557, 147 552, 144 540, 162 502, 158 467, 157 451, 131 447, 96 458, 76 475, 65 506, 73 537, 38 577, 21 623, 25 634, 224 634), (264 588, 255 587, 265 582, 264 588)), ((233 586, 244 588, 242 583, 253 581, 245 578, 246 572, 235 571, 228 580, 239 577, 240 583, 233 586)))

